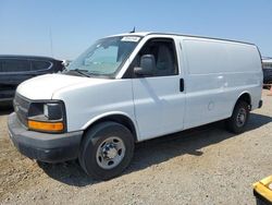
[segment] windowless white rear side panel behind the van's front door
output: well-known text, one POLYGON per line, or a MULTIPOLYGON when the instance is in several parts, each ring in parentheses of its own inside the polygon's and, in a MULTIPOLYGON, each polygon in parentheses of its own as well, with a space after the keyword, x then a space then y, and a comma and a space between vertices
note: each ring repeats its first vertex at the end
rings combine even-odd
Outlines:
POLYGON ((261 98, 262 72, 256 46, 193 38, 181 40, 185 62, 185 128, 231 117, 243 93, 251 96, 252 109, 261 98))

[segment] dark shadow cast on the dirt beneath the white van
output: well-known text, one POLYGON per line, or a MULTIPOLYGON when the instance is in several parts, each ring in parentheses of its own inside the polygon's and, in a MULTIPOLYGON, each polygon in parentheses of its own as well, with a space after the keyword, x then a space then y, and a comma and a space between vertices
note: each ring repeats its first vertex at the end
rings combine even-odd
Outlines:
MULTIPOLYGON (((247 132, 258 129, 269 122, 272 122, 271 117, 251 113, 247 132)), ((215 122, 138 143, 132 165, 123 174, 128 174, 149 166, 161 164, 184 154, 201 156, 202 152, 199 149, 231 137, 239 136, 240 135, 234 135, 226 132, 223 122, 215 122)), ((95 181, 88 177, 82 170, 77 161, 55 165, 38 162, 38 165, 49 177, 69 185, 85 186, 99 183, 99 181, 95 181)))

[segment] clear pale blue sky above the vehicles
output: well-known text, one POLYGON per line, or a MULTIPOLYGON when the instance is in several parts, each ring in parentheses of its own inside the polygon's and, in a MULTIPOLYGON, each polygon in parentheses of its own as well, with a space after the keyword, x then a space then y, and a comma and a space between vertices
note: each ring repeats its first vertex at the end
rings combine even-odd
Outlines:
POLYGON ((134 26, 249 41, 272 57, 271 0, 0 0, 0 55, 72 60, 134 26))

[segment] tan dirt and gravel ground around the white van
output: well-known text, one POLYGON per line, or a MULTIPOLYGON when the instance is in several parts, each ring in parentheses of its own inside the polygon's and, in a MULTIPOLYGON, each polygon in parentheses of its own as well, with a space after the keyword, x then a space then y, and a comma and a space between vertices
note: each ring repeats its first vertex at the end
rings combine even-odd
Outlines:
POLYGON ((37 164, 16 152, 0 107, 0 204, 256 204, 251 184, 272 174, 272 96, 247 132, 222 122, 139 143, 131 167, 94 181, 76 161, 37 164))

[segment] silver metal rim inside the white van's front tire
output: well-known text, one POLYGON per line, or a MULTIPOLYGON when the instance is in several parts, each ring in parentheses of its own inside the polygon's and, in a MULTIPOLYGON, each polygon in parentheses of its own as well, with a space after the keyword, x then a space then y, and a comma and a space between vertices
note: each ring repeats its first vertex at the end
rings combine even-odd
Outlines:
POLYGON ((124 142, 112 136, 104 140, 97 149, 97 164, 103 169, 112 169, 116 167, 125 156, 124 142))

